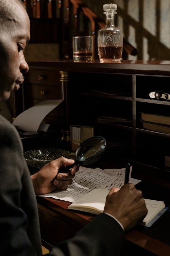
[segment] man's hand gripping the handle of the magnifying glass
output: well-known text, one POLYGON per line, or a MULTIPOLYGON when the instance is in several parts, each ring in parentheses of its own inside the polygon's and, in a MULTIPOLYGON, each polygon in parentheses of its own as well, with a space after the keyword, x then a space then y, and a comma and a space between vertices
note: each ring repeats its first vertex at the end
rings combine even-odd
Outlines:
POLYGON ((64 173, 64 169, 66 169, 66 167, 68 168, 69 165, 72 165, 73 163, 73 159, 68 159, 62 156, 47 163, 41 170, 31 175, 35 194, 43 195, 56 189, 64 190, 71 185, 72 179, 75 176, 75 173, 79 170, 79 167, 75 165, 66 173, 64 173), (58 173, 58 171, 60 171, 60 173, 58 173))

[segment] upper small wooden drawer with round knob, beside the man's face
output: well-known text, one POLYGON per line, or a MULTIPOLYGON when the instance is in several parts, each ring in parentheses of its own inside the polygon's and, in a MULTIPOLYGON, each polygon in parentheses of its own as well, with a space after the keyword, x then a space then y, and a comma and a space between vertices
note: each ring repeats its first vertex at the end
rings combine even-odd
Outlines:
POLYGON ((55 70, 31 69, 25 75, 26 83, 60 86, 60 73, 55 70))

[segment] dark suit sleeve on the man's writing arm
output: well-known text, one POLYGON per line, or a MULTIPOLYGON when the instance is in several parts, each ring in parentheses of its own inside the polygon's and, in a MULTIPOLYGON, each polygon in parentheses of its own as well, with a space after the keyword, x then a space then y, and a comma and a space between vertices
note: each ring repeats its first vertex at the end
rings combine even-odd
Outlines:
POLYGON ((51 256, 119 256, 125 234, 118 222, 104 213, 97 215, 72 239, 54 247, 51 256))

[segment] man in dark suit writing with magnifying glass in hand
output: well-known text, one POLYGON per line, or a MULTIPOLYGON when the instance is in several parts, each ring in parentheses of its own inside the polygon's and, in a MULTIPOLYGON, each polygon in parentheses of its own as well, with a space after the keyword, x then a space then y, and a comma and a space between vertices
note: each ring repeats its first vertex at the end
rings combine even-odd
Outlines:
MULTIPOLYGON (((0 0, 1 100, 8 99, 11 91, 23 83, 23 73, 29 69, 23 51, 29 39, 30 21, 22 2, 0 0)), ((18 133, 0 116, 0 255, 41 255, 35 194, 70 185, 78 171, 76 166, 69 173, 57 173, 72 163, 72 159, 58 158, 32 175, 31 182, 18 133)), ((112 188, 104 212, 72 239, 55 246, 49 255, 120 255, 124 231, 133 228, 146 214, 142 193, 133 184, 120 190, 112 188)))

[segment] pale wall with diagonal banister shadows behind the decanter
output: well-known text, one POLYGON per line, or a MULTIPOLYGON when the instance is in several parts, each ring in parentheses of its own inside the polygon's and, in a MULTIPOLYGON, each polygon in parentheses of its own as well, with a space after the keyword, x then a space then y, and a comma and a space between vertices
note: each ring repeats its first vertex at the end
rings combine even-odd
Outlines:
MULTIPOLYGON (((101 0, 100 4, 98 0, 84 0, 84 2, 105 19, 103 4, 108 1, 101 0)), ((169 0, 114 0, 112 2, 117 4, 115 25, 122 29, 124 38, 138 49, 137 59, 170 60, 169 0), (132 12, 132 15, 129 14, 132 12), (134 15, 137 16, 136 19, 132 17, 134 15), (164 31, 161 31, 162 28, 164 31)))

